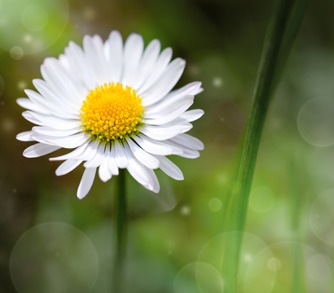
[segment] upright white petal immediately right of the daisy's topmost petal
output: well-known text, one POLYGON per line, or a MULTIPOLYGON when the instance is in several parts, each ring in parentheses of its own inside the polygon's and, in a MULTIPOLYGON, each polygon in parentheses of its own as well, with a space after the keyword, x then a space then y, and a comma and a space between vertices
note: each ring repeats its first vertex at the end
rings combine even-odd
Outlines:
POLYGON ((133 86, 137 79, 144 41, 138 34, 131 34, 124 44, 124 72, 122 84, 133 86))

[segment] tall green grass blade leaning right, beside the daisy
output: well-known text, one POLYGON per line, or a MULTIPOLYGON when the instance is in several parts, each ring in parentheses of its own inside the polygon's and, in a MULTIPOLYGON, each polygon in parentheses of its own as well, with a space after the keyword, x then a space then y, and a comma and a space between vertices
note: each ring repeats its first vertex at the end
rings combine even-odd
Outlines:
MULTIPOLYGON (((302 20, 307 0, 277 2, 264 43, 253 105, 246 126, 235 184, 227 216, 227 229, 242 232, 247 216, 248 199, 253 179, 262 129, 273 92, 288 59, 302 20)), ((231 233, 224 248, 224 291, 237 292, 237 275, 242 233, 231 233)))

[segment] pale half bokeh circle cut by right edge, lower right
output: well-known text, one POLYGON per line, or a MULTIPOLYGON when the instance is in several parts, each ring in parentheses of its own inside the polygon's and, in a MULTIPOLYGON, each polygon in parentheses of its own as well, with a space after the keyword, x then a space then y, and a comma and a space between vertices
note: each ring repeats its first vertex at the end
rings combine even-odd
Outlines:
POLYGON ((324 243, 334 246, 334 189, 321 193, 313 201, 309 219, 313 233, 324 243))

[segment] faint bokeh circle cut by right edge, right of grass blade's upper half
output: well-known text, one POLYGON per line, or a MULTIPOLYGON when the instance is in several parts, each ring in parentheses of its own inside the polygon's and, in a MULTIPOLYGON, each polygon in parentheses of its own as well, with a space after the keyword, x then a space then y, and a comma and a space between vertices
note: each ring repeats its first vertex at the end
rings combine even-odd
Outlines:
POLYGON ((299 110, 297 125, 300 135, 313 146, 334 144, 334 100, 315 98, 299 110))

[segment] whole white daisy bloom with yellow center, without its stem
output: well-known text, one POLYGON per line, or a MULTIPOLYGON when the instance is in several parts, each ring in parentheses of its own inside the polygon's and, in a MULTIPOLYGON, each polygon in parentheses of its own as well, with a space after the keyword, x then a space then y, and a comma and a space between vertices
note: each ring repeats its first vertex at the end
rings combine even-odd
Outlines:
POLYGON ((203 149, 197 138, 186 134, 204 113, 188 110, 202 88, 193 82, 172 90, 185 61, 171 58, 170 48, 160 51, 158 40, 144 48, 143 38, 134 33, 124 44, 117 31, 106 42, 85 36, 83 48, 70 42, 58 59, 45 59, 43 79, 33 80, 37 91, 25 90, 28 98, 17 100, 26 109, 23 117, 36 125, 17 135, 18 140, 37 142, 23 155, 34 158, 72 149, 50 160, 64 161, 58 176, 83 163, 80 199, 97 172, 106 182, 127 169, 153 192, 160 188, 155 169, 183 180, 166 156, 196 158, 203 149))

